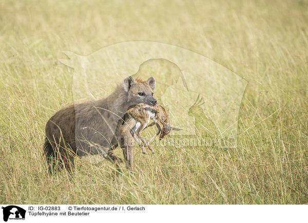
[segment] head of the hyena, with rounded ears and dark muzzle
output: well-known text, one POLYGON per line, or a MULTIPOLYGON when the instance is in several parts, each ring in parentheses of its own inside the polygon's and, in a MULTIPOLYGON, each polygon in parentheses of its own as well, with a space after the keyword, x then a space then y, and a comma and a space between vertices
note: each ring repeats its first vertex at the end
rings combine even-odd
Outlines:
POLYGON ((153 97, 153 90, 156 87, 154 77, 149 77, 146 81, 141 79, 134 80, 132 76, 124 79, 124 90, 127 92, 127 102, 130 105, 144 103, 150 106, 156 105, 157 100, 153 97))

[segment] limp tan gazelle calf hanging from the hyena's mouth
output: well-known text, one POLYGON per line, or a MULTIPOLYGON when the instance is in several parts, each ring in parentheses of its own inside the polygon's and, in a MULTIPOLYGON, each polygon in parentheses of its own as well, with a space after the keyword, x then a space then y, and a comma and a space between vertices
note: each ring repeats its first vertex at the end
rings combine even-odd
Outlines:
POLYGON ((149 106, 140 103, 126 111, 124 116, 124 121, 128 123, 131 119, 136 120, 136 125, 130 129, 130 133, 133 136, 134 140, 137 141, 138 145, 140 146, 144 154, 146 154, 144 149, 144 147, 146 146, 151 150, 152 153, 154 153, 153 148, 149 144, 153 139, 155 139, 157 135, 159 135, 159 133, 161 133, 159 139, 162 140, 164 136, 168 135, 172 130, 175 131, 181 130, 179 128, 174 128, 170 125, 168 114, 165 111, 165 109, 160 105, 149 106), (153 122, 147 126, 150 119, 152 119, 153 122), (163 128, 160 127, 159 123, 163 125, 163 128), (142 137, 141 133, 145 128, 153 125, 156 125, 157 132, 148 142, 146 142, 142 137), (142 140, 142 143, 144 143, 144 145, 142 145, 141 141, 137 138, 136 134, 142 140))

